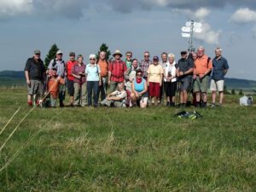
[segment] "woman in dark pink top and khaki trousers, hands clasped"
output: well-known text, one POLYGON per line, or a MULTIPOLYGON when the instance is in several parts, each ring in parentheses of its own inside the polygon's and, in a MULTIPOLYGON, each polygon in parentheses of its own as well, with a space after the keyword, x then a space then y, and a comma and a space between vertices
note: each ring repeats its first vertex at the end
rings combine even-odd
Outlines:
POLYGON ((78 62, 72 68, 72 74, 74 77, 74 106, 84 107, 86 105, 86 78, 83 55, 78 55, 78 62))

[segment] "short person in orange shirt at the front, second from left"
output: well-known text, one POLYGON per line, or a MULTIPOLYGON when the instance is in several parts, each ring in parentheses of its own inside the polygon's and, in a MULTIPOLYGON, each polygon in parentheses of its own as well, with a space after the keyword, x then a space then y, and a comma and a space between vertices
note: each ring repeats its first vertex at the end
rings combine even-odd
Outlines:
POLYGON ((54 67, 51 69, 51 77, 49 78, 47 87, 50 95, 50 107, 55 108, 56 100, 59 96, 59 86, 65 84, 65 80, 57 75, 57 69, 54 67))

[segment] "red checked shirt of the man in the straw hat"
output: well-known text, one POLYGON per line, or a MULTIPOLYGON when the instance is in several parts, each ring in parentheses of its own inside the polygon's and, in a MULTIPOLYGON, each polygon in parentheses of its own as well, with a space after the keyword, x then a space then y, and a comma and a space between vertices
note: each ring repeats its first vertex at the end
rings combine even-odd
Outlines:
POLYGON ((127 67, 124 61, 112 61, 108 70, 111 72, 111 81, 123 82, 125 80, 124 73, 127 70, 127 67))

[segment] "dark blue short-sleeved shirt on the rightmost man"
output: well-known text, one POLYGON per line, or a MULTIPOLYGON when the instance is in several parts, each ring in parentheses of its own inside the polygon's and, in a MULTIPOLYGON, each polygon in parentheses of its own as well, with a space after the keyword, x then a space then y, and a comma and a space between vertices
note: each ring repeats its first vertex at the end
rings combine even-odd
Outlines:
POLYGON ((218 60, 215 57, 212 60, 212 79, 224 80, 224 70, 229 68, 228 61, 224 57, 220 57, 218 60))

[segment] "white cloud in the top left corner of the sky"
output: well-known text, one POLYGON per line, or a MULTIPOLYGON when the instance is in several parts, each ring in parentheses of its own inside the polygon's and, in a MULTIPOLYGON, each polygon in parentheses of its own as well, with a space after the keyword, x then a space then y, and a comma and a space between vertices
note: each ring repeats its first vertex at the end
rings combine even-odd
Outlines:
POLYGON ((33 9, 33 0, 0 0, 0 19, 30 14, 33 9))

